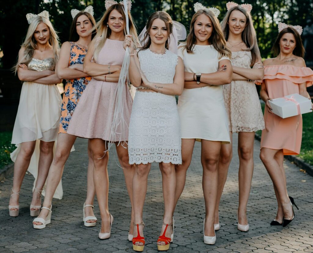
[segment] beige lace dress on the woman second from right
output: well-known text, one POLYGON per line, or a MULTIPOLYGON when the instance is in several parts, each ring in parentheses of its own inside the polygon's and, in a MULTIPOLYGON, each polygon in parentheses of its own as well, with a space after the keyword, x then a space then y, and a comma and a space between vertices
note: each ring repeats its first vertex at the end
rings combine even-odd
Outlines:
MULTIPOLYGON (((249 69, 251 59, 250 51, 232 52, 231 63, 249 69)), ((257 63, 253 68, 263 68, 263 65, 257 63)), ((229 131, 256 132, 264 129, 263 113, 254 82, 233 80, 222 86, 229 131)))

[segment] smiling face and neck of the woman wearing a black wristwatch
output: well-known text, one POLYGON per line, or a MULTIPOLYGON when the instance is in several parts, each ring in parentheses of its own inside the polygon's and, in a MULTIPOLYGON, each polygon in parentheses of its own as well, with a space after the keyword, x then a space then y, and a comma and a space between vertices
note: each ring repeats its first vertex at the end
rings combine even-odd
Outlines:
POLYGON ((213 33, 213 23, 211 19, 207 15, 201 14, 197 17, 193 28, 194 35, 196 36, 196 44, 208 45, 208 39, 213 33))

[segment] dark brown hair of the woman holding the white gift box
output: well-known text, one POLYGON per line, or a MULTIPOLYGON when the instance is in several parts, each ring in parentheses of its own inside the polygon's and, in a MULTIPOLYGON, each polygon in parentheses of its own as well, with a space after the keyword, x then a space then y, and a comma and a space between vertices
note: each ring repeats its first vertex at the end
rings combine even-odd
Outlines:
POLYGON ((272 54, 276 57, 277 55, 280 54, 280 46, 279 46, 279 42, 280 42, 280 39, 281 37, 283 37, 284 34, 286 33, 290 33, 290 34, 293 34, 295 36, 295 49, 293 50, 293 54, 296 55, 296 56, 299 56, 299 57, 304 57, 304 52, 305 52, 305 49, 304 49, 304 46, 302 44, 302 39, 300 37, 300 34, 295 30, 295 28, 292 28, 292 27, 286 27, 284 29, 282 29, 280 31, 280 33, 278 34, 276 40, 275 40, 275 43, 273 45, 273 48, 272 48, 272 54))

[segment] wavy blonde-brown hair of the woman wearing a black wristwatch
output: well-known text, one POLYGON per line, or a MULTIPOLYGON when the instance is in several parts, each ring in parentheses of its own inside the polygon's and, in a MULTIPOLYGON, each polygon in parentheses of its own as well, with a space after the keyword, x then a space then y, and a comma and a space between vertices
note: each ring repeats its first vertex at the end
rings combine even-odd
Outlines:
POLYGON ((202 14, 208 16, 212 21, 213 32, 210 38, 208 39, 208 42, 211 45, 213 45, 216 51, 218 51, 219 59, 225 56, 231 58, 232 53, 226 45, 226 40, 224 38, 219 21, 217 17, 215 17, 214 13, 208 9, 198 10, 195 14, 193 14, 190 23, 190 32, 187 36, 186 44, 184 44, 183 47, 186 48, 188 54, 193 54, 193 48, 196 43, 196 36, 194 34, 194 24, 196 23, 197 18, 202 14))

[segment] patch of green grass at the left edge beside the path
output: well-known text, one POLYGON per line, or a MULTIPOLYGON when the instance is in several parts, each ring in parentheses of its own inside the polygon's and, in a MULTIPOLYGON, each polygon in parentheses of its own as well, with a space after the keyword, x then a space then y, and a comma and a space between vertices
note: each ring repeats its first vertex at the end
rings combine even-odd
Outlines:
POLYGON ((0 168, 12 163, 10 153, 15 149, 11 144, 12 132, 0 132, 0 168))

